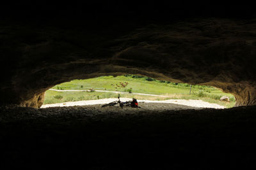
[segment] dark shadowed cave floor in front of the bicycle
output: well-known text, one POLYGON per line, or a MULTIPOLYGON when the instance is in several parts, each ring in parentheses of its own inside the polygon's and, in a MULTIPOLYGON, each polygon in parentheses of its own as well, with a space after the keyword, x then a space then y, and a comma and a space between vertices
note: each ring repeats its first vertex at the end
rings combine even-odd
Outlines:
POLYGON ((256 160, 255 111, 1 107, 0 169, 246 169, 256 160))

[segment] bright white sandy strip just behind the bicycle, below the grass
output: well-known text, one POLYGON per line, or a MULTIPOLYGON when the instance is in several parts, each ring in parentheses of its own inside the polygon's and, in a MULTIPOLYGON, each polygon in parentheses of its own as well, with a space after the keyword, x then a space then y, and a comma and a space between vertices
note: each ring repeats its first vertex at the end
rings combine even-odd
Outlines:
MULTIPOLYGON (((120 101, 131 101, 131 98, 122 98, 120 97, 120 101)), ((116 98, 109 99, 99 99, 99 100, 90 100, 90 101, 74 101, 74 102, 66 102, 66 103, 55 103, 55 104, 44 104, 41 108, 49 108, 49 107, 65 107, 65 106, 85 106, 85 105, 93 105, 93 104, 106 104, 116 101, 116 98)), ((220 106, 215 103, 208 103, 201 100, 184 100, 184 99, 170 99, 164 101, 149 101, 149 100, 138 100, 138 103, 173 103, 173 104, 182 104, 185 106, 192 106, 196 108, 216 108, 216 109, 224 109, 224 106, 220 106)))

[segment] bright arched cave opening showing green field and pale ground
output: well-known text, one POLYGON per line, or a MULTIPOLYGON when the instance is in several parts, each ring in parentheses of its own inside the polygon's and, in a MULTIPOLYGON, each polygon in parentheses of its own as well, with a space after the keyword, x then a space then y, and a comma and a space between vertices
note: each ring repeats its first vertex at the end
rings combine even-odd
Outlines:
POLYGON ((164 103, 169 104, 168 106, 179 104, 184 108, 232 108, 236 104, 232 94, 215 87, 125 74, 72 80, 56 85, 45 92, 45 101, 41 108, 106 104, 117 100, 118 94, 121 101, 136 98, 139 104, 151 103, 147 104, 147 108, 153 103, 157 107, 159 103, 164 103))

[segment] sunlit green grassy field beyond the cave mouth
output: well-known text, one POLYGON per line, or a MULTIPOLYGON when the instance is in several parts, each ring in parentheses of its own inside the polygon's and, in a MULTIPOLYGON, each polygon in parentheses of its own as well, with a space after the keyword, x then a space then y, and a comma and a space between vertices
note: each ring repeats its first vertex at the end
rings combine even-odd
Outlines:
MULTIPOLYGON (((121 94, 121 97, 135 97, 136 99, 201 99, 209 103, 217 103, 231 108, 236 103, 232 94, 221 92, 220 89, 204 85, 192 85, 191 95, 189 95, 190 85, 187 83, 172 83, 170 81, 159 81, 154 78, 145 76, 100 76, 98 78, 90 78, 86 80, 72 80, 66 83, 61 83, 52 87, 58 90, 109 90, 118 92, 127 92, 121 94), (127 83, 126 83, 127 82, 127 83), (123 83, 123 87, 121 85, 123 83), (128 93, 131 92, 131 93, 128 93), (141 96, 132 93, 157 94, 168 97, 156 96, 141 96), (230 103, 220 101, 221 96, 230 97, 230 103)), ((116 97, 117 95, 111 92, 56 92, 47 90, 45 92, 44 104, 63 103, 67 101, 82 101, 92 99, 104 99, 116 97)))

